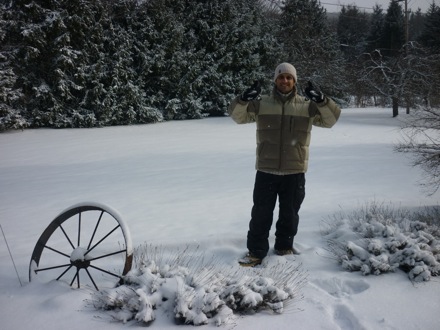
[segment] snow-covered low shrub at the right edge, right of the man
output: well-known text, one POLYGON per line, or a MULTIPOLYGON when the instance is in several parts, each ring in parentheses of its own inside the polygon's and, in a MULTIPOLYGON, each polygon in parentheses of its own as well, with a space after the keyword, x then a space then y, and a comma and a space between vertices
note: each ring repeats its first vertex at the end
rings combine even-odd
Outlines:
POLYGON ((323 236, 342 268, 363 275, 402 269, 412 281, 440 275, 440 208, 410 212, 372 203, 325 221, 323 236))

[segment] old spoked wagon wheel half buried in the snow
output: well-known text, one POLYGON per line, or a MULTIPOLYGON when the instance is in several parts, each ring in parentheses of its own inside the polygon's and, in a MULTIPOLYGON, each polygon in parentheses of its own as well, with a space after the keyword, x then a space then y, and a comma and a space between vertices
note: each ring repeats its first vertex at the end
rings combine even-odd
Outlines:
POLYGON ((132 260, 130 233, 118 212, 97 203, 76 204, 61 212, 40 236, 29 265, 29 281, 39 274, 68 279, 78 288, 91 282, 99 290, 98 279, 122 279, 132 260))

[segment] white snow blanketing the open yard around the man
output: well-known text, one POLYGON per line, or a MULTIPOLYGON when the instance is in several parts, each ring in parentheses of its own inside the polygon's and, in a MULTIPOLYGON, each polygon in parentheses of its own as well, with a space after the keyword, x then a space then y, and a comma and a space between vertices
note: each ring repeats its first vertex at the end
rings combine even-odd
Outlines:
MULTIPOLYGON (((323 221, 329 221, 329 216, 341 209, 357 210, 372 201, 407 208, 438 205, 438 193, 430 197, 420 194, 420 170, 411 167, 405 155, 393 152, 401 138, 399 118, 405 118, 403 111, 393 119, 389 109, 344 109, 332 129, 314 128, 306 199, 296 237, 302 253, 289 257, 272 255, 266 268, 246 270, 255 274, 272 271, 249 286, 263 290, 270 286, 275 272, 282 273, 283 265, 293 267, 295 273, 304 271, 307 282, 300 290, 303 298, 291 300, 280 313, 262 311, 241 316, 224 309, 215 322, 226 321, 222 325, 226 329, 438 328, 438 277, 412 283, 408 274, 400 270, 380 276, 346 272, 329 254, 327 240, 321 235, 323 221)), ((185 251, 189 257, 194 256, 187 262, 192 272, 198 269, 200 253, 208 262, 213 258, 215 269, 221 269, 225 276, 238 271, 236 260, 246 251, 255 176, 252 124, 236 125, 230 118, 209 118, 100 129, 25 130, 0 135, 0 155, 0 223, 23 282, 20 286, 2 237, 2 329, 144 327, 138 321, 123 324, 108 311, 95 308, 92 302, 97 293, 93 286, 77 289, 65 280, 40 279, 40 274, 36 280, 28 281, 30 257, 42 232, 62 210, 86 201, 108 206, 118 214, 137 252, 148 250, 147 256, 169 260, 178 255, 175 251, 188 247, 185 251)), ((384 230, 392 232, 390 228, 384 230)), ((345 237, 355 247, 355 238, 345 224, 335 235, 345 237)), ((381 248, 381 241, 370 243, 373 251, 381 248)), ((359 248, 354 250, 368 258, 365 250, 359 248)), ((145 270, 153 266, 150 264, 145 270)), ((183 274, 186 270, 163 271, 183 274)), ((423 276, 425 271, 422 266, 417 267, 412 276, 423 276)), ((213 276, 199 275, 200 281, 213 276)), ((217 275, 221 278, 220 273, 217 275)), ((176 288, 185 284, 178 279, 156 279, 150 284, 162 284, 159 293, 173 298, 176 288)), ((122 291, 125 289, 121 287, 122 291)), ((194 299, 199 297, 198 309, 202 309, 200 297, 204 289, 202 286, 195 292, 177 291, 193 295, 194 299)), ((100 294, 104 292, 101 290, 100 294)), ((147 296, 142 290, 137 297, 143 306, 163 298, 147 296)), ((214 296, 210 297, 210 303, 218 303, 214 296)), ((258 296, 250 292, 246 299, 255 303, 258 296)), ((183 311, 188 300, 179 302, 183 311)), ((151 318, 151 312, 141 310, 136 318, 151 318)), ((153 328, 182 327, 174 321, 170 300, 153 312, 153 328)), ((202 314, 191 312, 197 321, 206 321, 202 314)), ((128 320, 130 315, 120 315, 119 319, 124 317, 128 320)), ((201 327, 212 328, 213 323, 201 327)))

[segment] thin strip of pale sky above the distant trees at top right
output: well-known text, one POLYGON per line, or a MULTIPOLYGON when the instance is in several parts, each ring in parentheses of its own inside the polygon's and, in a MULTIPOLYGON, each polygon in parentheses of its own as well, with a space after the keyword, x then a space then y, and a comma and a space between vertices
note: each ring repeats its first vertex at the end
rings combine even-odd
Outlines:
MULTIPOLYGON (((433 0, 407 0, 408 9, 416 11, 419 7, 422 12, 426 13, 433 0)), ((388 9, 390 0, 321 0, 321 4, 327 9, 327 12, 338 12, 341 10, 342 5, 355 4, 359 9, 364 9, 367 12, 371 12, 375 4, 382 6, 384 11, 388 9)), ((440 4, 440 0, 435 0, 437 5, 440 4)), ((402 1, 402 6, 405 2, 402 1)), ((403 7, 404 8, 404 7, 403 7)))

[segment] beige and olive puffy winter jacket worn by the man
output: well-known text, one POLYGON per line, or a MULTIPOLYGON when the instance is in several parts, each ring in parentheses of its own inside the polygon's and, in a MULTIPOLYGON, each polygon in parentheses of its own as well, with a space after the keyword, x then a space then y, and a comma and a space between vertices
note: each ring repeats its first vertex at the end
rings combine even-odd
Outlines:
POLYGON ((257 123, 256 169, 285 175, 307 171, 312 125, 332 127, 341 109, 328 97, 316 104, 296 91, 283 100, 274 89, 271 95, 250 102, 238 96, 229 114, 238 124, 257 123))

